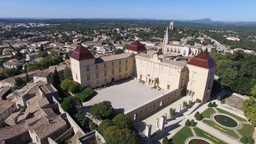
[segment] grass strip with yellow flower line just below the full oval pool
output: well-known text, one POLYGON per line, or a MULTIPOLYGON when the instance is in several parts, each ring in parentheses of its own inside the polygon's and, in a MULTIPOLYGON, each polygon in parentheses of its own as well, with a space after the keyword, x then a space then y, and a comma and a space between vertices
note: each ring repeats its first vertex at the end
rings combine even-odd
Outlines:
POLYGON ((221 131, 221 132, 223 132, 223 133, 225 133, 225 134, 228 134, 228 135, 230 135, 230 136, 232 136, 236 139, 239 138, 239 136, 234 132, 234 130, 229 130, 229 129, 226 129, 226 128, 222 128, 220 125, 214 123, 211 120, 203 120, 202 122, 211 126, 211 127, 213 127, 213 128, 215 128, 215 129, 217 129, 217 130, 219 130, 219 131, 221 131))

